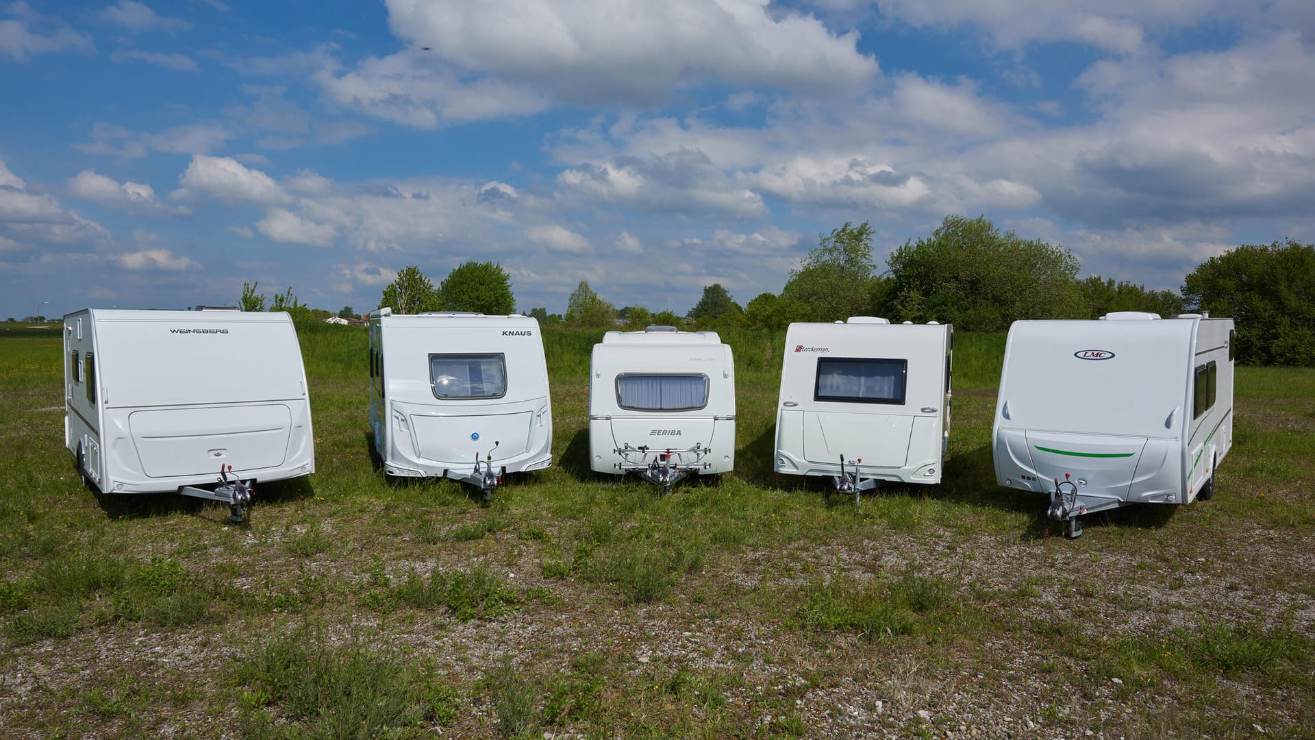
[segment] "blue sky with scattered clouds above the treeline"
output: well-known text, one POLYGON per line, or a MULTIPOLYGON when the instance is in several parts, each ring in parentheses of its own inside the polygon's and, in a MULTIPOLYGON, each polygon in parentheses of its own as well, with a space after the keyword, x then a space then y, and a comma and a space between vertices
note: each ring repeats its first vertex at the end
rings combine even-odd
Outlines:
POLYGON ((0 319, 467 259, 682 313, 947 213, 1156 288, 1315 241, 1307 0, 0 0, 0 319))

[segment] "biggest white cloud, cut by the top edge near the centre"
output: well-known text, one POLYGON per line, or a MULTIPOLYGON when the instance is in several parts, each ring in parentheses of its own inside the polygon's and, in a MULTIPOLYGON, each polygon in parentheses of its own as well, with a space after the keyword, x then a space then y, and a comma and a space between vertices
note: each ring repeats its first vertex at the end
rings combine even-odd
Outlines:
POLYGON ((765 0, 387 0, 393 33, 433 57, 576 103, 651 104, 725 80, 805 95, 864 88, 877 63, 856 33, 765 0))

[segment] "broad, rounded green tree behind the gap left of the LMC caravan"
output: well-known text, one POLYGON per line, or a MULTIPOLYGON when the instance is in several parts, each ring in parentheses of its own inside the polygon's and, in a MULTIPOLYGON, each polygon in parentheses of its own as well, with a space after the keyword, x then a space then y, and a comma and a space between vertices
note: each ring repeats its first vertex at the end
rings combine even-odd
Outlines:
POLYGON ((985 216, 945 216, 928 238, 907 241, 886 258, 892 321, 952 323, 999 332, 1019 319, 1088 315, 1077 258, 1063 246, 1001 232, 985 216))

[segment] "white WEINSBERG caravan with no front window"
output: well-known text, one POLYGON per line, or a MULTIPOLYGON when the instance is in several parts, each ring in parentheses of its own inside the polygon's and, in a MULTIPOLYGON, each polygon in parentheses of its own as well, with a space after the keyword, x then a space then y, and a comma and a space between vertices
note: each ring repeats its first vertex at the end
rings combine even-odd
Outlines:
POLYGON ((178 491, 241 521, 255 481, 314 473, 285 312, 83 309, 64 316, 63 363, 64 445, 104 494, 178 491))

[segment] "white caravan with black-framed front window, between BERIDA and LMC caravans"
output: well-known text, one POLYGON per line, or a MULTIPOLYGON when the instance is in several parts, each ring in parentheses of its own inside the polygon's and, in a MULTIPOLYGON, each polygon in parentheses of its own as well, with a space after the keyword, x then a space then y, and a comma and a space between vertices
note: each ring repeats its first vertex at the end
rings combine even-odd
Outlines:
POLYGON ((855 495, 878 481, 939 483, 949 444, 949 324, 851 316, 790 324, 776 411, 777 473, 855 495))

